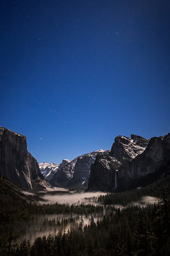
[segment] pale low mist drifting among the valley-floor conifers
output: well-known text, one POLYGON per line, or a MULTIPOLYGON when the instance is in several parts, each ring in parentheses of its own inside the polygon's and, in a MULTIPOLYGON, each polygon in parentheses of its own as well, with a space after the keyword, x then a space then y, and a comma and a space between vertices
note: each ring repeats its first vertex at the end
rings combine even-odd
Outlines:
MULTIPOLYGON (((63 188, 52 188, 47 189, 47 192, 42 193, 42 201, 39 201, 40 204, 73 204, 73 205, 79 205, 79 204, 93 204, 93 205, 99 205, 102 204, 101 202, 97 202, 98 197, 100 195, 106 195, 107 193, 104 192, 69 192, 68 189, 63 188), (53 195, 49 192, 51 191, 57 191, 57 194, 53 195), (61 193, 59 192, 61 191, 61 193)), ((29 193, 30 192, 26 192, 29 193)), ((147 206, 147 204, 154 204, 156 202, 155 197, 151 196, 144 196, 139 200, 138 202, 130 202, 126 206, 122 206, 120 204, 115 204, 115 208, 126 208, 128 206, 147 206)), ((29 220, 23 220, 20 223, 18 223, 17 230, 20 230, 22 234, 22 239, 20 241, 24 241, 24 239, 29 239, 31 245, 35 241, 35 238, 46 236, 48 237, 49 234, 51 236, 55 237, 58 232, 67 232, 68 229, 70 229, 71 225, 79 225, 80 222, 82 222, 83 226, 86 224, 90 224, 91 217, 93 215, 95 223, 97 222, 97 219, 102 219, 104 214, 108 214, 106 212, 106 207, 103 208, 103 213, 99 215, 93 215, 93 214, 87 214, 87 215, 76 215, 74 213, 72 214, 50 214, 50 215, 34 215, 29 220), (71 217, 71 219, 70 219, 71 217), (66 220, 66 222, 64 222, 66 220), (58 224, 59 223, 59 224, 58 224)))

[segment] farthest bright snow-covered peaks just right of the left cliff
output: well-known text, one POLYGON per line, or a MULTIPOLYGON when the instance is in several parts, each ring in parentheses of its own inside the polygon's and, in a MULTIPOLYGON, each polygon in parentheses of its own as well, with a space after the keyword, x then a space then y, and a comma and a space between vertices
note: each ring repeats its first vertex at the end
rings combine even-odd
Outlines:
POLYGON ((63 159, 62 163, 60 163, 60 164, 43 162, 43 163, 39 164, 39 167, 40 167, 40 171, 42 172, 44 177, 47 180, 51 180, 53 178, 54 174, 56 174, 58 170, 60 170, 65 165, 67 165, 69 162, 70 162, 70 160, 68 160, 68 159, 63 159))

